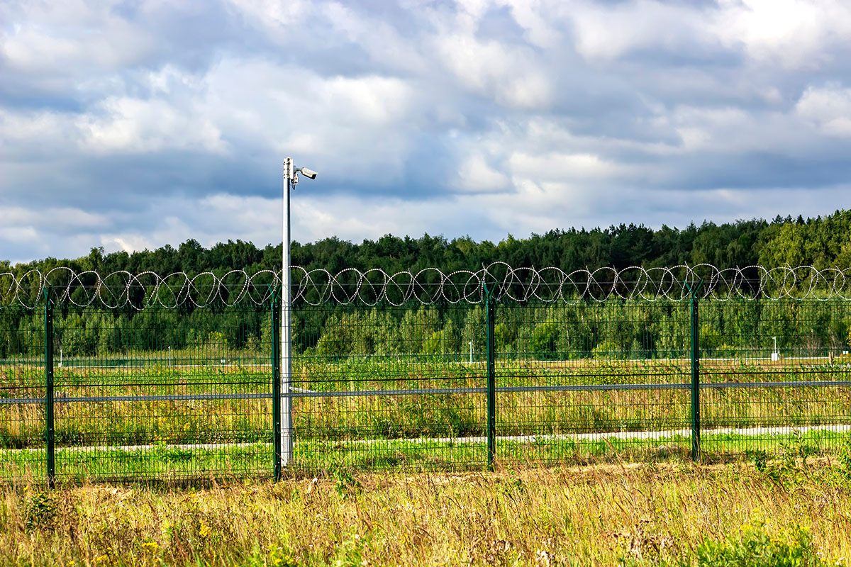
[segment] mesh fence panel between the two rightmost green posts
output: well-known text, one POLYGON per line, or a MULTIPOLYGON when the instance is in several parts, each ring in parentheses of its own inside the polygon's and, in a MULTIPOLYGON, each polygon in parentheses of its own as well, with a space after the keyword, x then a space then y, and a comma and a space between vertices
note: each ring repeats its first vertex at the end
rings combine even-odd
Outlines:
POLYGON ((500 462, 688 455, 688 305, 500 304, 500 462))

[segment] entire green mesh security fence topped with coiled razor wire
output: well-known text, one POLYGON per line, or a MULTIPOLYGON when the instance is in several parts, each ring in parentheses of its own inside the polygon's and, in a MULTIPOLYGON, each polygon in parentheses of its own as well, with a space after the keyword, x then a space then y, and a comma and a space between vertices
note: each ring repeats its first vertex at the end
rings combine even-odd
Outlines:
POLYGON ((0 275, 0 479, 846 450, 851 273, 652 270, 0 275))

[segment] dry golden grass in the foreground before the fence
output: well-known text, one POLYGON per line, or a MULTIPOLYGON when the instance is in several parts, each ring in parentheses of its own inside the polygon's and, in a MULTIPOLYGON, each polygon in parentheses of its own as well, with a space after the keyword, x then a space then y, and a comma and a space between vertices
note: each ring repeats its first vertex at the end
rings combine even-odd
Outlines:
POLYGON ((614 565, 688 556, 766 522, 851 556, 851 482, 829 463, 523 468, 0 496, 2 564, 614 565))

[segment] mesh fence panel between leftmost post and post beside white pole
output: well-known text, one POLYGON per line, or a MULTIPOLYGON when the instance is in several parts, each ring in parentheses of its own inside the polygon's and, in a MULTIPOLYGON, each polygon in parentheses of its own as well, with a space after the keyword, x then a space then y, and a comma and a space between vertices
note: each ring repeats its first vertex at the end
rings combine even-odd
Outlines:
POLYGON ((58 479, 271 474, 271 311, 56 309, 58 479))

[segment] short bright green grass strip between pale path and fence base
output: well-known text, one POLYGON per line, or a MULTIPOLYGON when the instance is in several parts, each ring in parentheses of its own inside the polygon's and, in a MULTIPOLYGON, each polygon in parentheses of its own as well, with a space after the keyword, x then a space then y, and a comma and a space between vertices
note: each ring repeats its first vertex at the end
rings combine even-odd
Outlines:
MULTIPOLYGON (((851 436, 832 431, 773 435, 705 434, 703 462, 751 461, 764 466, 781 456, 802 461, 841 455, 851 436)), ((0 479, 44 479, 45 451, 0 451, 0 479)), ((616 462, 688 462, 691 439, 670 435, 659 439, 563 439, 534 441, 498 439, 496 466, 540 464, 585 466, 616 462)), ((141 447, 62 447, 56 451, 60 482, 110 479, 270 478, 271 443, 204 447, 150 445, 141 447)), ((484 442, 431 439, 379 439, 369 442, 301 441, 294 446, 288 475, 331 474, 339 470, 424 471, 483 470, 488 466, 484 442)))

